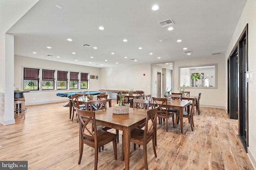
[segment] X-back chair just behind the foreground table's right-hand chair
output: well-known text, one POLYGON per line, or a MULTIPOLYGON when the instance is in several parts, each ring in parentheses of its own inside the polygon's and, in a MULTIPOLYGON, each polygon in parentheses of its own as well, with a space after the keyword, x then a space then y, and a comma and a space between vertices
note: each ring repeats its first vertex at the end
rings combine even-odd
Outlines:
POLYGON ((168 108, 166 108, 167 98, 154 98, 154 97, 152 97, 152 99, 153 99, 154 107, 159 107, 159 110, 157 112, 157 117, 158 117, 159 124, 162 124, 162 119, 161 118, 166 119, 166 132, 168 132, 168 118, 172 117, 172 123, 173 123, 173 127, 174 127, 174 113, 173 112, 168 112, 168 108))

